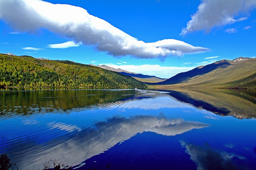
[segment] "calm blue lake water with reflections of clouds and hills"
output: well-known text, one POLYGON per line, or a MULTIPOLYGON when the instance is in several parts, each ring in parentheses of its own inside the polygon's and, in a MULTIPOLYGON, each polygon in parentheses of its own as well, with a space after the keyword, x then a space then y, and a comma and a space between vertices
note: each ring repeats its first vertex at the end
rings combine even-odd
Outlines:
POLYGON ((255 170, 255 117, 255 90, 1 90, 0 153, 20 170, 255 170))

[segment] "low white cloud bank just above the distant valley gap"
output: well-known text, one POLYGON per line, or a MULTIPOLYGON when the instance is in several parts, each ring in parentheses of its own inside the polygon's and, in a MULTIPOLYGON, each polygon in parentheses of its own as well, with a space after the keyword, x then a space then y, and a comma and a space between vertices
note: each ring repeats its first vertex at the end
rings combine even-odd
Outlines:
POLYGON ((160 78, 170 78, 180 72, 185 72, 194 69, 195 67, 167 67, 158 64, 150 65, 115 65, 115 64, 100 64, 106 65, 115 69, 122 69, 130 72, 140 73, 144 75, 157 76, 160 78))

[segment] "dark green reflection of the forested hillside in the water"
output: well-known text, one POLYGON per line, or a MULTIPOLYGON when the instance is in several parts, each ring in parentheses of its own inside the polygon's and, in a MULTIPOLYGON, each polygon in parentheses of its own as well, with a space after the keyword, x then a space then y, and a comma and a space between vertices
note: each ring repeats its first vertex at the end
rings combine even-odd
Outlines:
POLYGON ((124 100, 134 90, 36 90, 0 91, 0 115, 34 114, 92 107, 96 104, 124 100))

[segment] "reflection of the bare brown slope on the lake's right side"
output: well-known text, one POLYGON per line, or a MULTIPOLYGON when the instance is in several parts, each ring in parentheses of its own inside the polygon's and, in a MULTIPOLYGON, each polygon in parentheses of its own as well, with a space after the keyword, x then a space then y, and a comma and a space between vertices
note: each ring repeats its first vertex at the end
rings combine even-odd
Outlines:
POLYGON ((231 89, 172 89, 175 99, 221 116, 256 117, 256 91, 231 89))

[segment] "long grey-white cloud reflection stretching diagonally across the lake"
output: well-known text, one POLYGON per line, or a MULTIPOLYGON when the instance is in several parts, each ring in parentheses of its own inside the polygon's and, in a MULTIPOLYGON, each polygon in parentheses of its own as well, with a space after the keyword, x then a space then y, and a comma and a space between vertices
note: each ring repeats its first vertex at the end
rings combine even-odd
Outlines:
MULTIPOLYGON (((162 114, 161 114, 162 115, 162 114)), ((53 139, 48 145, 30 146, 26 152, 15 150, 11 155, 19 162, 19 168, 35 165, 41 167, 43 161, 58 158, 65 163, 77 165, 94 155, 100 154, 114 145, 130 139, 137 133, 151 131, 161 135, 174 136, 208 127, 208 124, 167 119, 164 116, 113 117, 106 122, 98 122, 93 127, 77 131, 63 139, 53 139), (22 153, 17 155, 15 153, 22 153)))

